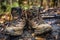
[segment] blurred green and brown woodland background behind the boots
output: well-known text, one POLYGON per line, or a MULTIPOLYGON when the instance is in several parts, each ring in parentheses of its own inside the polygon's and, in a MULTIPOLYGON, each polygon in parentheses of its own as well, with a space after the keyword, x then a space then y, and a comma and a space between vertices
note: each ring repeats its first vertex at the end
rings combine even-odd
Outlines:
POLYGON ((12 7, 30 7, 36 5, 43 8, 54 8, 60 7, 59 4, 60 0, 0 0, 0 14, 10 11, 12 7))

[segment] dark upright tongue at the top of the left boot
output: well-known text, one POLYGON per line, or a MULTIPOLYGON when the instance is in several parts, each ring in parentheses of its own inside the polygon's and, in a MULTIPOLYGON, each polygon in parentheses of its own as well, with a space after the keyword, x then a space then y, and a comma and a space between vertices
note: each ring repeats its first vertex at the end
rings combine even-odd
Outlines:
POLYGON ((14 7, 11 9, 11 14, 14 17, 16 18, 21 18, 21 15, 22 15, 22 9, 19 8, 19 7, 14 7))

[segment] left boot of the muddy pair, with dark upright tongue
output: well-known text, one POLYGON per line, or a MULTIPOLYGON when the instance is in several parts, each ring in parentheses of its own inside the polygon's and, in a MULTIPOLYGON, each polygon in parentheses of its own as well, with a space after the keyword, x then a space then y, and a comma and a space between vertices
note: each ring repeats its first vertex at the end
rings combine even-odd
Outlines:
POLYGON ((22 35, 23 33, 23 28, 25 26, 26 20, 24 15, 22 14, 22 9, 21 8, 12 8, 12 17, 13 20, 10 21, 6 28, 6 34, 18 36, 22 35))

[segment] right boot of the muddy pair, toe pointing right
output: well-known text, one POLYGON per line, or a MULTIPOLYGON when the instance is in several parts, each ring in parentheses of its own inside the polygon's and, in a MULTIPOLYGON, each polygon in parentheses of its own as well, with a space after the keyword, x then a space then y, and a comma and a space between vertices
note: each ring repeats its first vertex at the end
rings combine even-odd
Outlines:
POLYGON ((40 14, 38 14, 38 10, 32 9, 29 12, 29 25, 34 29, 35 34, 42 34, 44 32, 51 30, 51 25, 45 23, 40 14))

